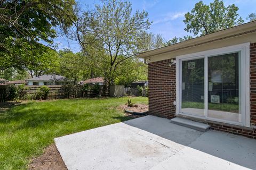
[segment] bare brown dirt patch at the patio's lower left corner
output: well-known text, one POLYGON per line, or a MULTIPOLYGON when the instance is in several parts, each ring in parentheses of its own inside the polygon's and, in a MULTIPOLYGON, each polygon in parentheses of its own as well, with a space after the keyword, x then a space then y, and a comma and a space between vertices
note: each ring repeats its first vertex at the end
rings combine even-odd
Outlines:
POLYGON ((67 169, 66 165, 64 164, 60 153, 55 146, 52 144, 51 146, 47 147, 44 150, 44 154, 36 157, 32 160, 31 164, 29 165, 30 170, 62 170, 67 169))

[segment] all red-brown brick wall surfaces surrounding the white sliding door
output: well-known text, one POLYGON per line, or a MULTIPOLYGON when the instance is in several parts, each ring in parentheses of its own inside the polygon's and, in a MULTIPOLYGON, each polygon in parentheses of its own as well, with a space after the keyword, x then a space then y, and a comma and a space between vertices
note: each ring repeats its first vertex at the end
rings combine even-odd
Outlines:
MULTIPOLYGON (((251 125, 256 125, 256 43, 251 44, 250 84, 251 84, 251 125)), ((148 64, 149 114, 165 118, 175 117, 176 67, 163 60, 148 64)), ((256 139, 256 130, 243 126, 231 126, 206 121, 214 130, 244 135, 256 139)))

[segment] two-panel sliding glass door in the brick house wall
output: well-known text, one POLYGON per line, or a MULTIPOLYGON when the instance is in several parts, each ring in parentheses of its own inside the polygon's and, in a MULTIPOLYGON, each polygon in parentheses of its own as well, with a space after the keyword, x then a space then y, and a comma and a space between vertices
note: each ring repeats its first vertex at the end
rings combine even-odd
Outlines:
POLYGON ((180 113, 242 122, 241 52, 181 60, 180 113))

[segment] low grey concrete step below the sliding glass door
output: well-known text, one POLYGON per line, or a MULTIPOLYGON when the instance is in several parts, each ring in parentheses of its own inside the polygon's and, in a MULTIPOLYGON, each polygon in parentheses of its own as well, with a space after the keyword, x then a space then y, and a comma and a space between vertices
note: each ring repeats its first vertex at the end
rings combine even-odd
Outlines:
POLYGON ((186 118, 179 118, 179 117, 172 118, 171 123, 185 126, 187 128, 195 129, 201 132, 206 132, 210 128, 210 125, 191 121, 186 118))

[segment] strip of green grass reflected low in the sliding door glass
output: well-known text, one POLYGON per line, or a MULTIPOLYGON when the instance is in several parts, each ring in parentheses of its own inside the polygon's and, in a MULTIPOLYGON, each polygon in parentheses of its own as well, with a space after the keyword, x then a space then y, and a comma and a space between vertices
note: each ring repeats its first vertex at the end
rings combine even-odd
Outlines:
MULTIPOLYGON (((192 101, 183 101, 182 108, 201 108, 204 109, 204 103, 192 102, 192 101)), ((239 106, 238 104, 229 104, 229 103, 208 103, 208 108, 214 111, 225 111, 225 112, 235 112, 238 113, 239 106)))

